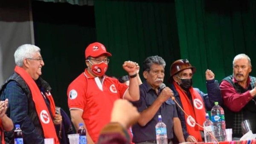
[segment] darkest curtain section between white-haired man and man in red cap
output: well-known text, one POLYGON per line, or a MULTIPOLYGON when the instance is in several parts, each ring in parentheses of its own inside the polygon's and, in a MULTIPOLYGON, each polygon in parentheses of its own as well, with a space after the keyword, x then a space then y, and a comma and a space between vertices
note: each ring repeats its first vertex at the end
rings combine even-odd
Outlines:
POLYGON ((32 12, 35 45, 45 63, 42 77, 52 86, 56 106, 69 114, 67 87, 84 71, 85 47, 96 41, 93 7, 32 1, 32 12))

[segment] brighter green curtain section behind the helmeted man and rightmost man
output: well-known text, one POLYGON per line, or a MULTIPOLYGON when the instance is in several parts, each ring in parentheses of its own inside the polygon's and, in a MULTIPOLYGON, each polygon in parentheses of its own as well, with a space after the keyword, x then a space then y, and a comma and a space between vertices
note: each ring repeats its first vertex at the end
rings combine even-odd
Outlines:
POLYGON ((218 81, 231 75, 239 53, 247 54, 256 67, 255 0, 175 0, 175 9, 181 58, 197 68, 194 86, 206 89, 206 69, 218 81))

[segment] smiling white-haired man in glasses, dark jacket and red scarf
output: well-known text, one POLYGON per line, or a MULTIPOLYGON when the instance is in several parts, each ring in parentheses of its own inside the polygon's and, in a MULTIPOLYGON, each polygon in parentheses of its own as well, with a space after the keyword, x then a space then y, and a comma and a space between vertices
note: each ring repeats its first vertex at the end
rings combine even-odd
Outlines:
MULTIPOLYGON (((24 144, 44 144, 44 138, 54 138, 59 144, 54 124, 60 124, 62 117, 55 114, 51 87, 40 77, 44 66, 40 48, 21 45, 14 57, 14 73, 0 89, 1 100, 9 100, 7 115, 14 124, 20 124, 24 144)), ((5 140, 14 144, 13 130, 6 132, 5 140)))

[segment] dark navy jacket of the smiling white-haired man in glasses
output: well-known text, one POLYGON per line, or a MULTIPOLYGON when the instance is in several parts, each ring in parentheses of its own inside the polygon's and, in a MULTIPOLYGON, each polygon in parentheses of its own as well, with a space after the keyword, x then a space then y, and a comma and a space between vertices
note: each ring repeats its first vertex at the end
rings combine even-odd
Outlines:
MULTIPOLYGON (((36 81, 39 89, 44 92, 50 90, 49 84, 42 78, 36 81)), ((43 95, 42 95, 43 96, 43 95)), ((24 144, 44 144, 44 132, 32 100, 29 86, 16 72, 9 77, 5 84, 1 86, 0 97, 2 100, 9 99, 7 116, 14 124, 20 124, 23 131, 24 144)), ((44 98, 50 115, 52 115, 49 101, 44 98)), ((14 130, 5 132, 6 144, 13 144, 14 130)))

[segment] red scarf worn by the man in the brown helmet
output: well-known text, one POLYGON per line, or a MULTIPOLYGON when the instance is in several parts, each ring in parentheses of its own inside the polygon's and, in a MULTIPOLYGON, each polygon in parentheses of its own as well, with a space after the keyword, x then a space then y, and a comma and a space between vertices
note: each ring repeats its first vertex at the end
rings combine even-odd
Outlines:
POLYGON ((180 88, 180 86, 178 86, 176 82, 173 82, 173 84, 180 95, 180 101, 184 111, 189 115, 189 117, 185 115, 187 132, 189 133, 189 135, 194 136, 197 141, 203 141, 200 134, 200 130, 203 131, 203 129, 201 127, 198 127, 198 125, 196 125, 195 122, 200 124, 201 126, 203 126, 204 124, 206 114, 204 101, 202 100, 199 93, 195 91, 191 86, 191 88, 189 88, 189 92, 191 93, 192 102, 194 105, 192 106, 188 96, 180 88))

